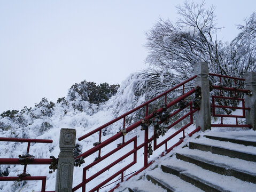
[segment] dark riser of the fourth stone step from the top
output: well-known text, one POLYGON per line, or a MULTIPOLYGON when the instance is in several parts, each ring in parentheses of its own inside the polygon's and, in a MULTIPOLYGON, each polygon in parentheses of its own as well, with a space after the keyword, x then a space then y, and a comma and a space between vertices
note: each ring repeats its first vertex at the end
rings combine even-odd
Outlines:
POLYGON ((180 167, 170 166, 170 165, 161 165, 162 171, 170 174, 175 174, 179 176, 182 180, 191 183, 192 185, 200 188, 204 191, 209 192, 220 192, 220 191, 228 191, 224 190, 223 188, 212 184, 206 180, 196 177, 190 173, 184 172, 185 169, 181 169, 180 167))

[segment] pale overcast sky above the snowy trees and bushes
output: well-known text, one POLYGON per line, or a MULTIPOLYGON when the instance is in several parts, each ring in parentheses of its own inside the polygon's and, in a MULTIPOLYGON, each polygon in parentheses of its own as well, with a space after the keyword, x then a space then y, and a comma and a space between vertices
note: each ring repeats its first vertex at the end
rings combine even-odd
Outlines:
MULTIPOLYGON (((201 1, 196 1, 201 2, 201 1)), ((256 1, 215 5, 223 41, 255 11, 256 1)), ((145 31, 159 17, 175 21, 177 0, 0 0, 0 113, 56 102, 74 83, 121 83, 145 68, 145 31)))

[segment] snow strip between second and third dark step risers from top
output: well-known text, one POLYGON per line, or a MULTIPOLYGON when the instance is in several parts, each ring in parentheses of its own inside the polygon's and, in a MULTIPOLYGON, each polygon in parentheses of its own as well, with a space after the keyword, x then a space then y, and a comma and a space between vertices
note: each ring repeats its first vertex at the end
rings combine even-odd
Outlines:
POLYGON ((183 155, 194 155, 199 158, 206 159, 218 164, 228 165, 230 168, 239 169, 241 171, 250 172, 256 174, 256 162, 245 161, 239 158, 231 158, 228 156, 212 154, 210 151, 201 151, 198 149, 184 148, 177 151, 177 153, 183 155))

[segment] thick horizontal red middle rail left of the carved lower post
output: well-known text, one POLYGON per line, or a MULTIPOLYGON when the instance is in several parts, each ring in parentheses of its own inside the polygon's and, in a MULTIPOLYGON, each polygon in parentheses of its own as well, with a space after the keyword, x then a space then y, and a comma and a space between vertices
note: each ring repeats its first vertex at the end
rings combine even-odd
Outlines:
MULTIPOLYGON (((51 164, 52 159, 33 159, 31 162, 28 164, 31 165, 48 165, 51 164)), ((20 165, 21 161, 19 161, 18 158, 0 158, 0 165, 20 165)))

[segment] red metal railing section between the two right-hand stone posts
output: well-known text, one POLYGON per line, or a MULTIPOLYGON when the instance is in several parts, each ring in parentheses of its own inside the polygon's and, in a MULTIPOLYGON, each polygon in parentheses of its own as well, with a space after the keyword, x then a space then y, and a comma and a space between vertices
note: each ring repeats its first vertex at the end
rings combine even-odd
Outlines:
MULTIPOLYGON (((230 78, 234 79, 234 85, 237 85, 237 81, 245 81, 244 78, 237 78, 237 77, 230 77, 226 75, 218 75, 218 74, 212 74, 209 73, 210 76, 216 76, 220 78, 220 84, 222 83, 222 78, 230 78)), ((251 127, 251 125, 242 125, 238 124, 238 118, 245 118, 245 110, 250 110, 250 107, 245 107, 244 99, 243 98, 237 98, 237 92, 241 93, 249 93, 250 90, 244 90, 244 89, 237 89, 236 87, 225 87, 222 85, 216 86, 212 85, 213 89, 220 90, 219 95, 212 95, 212 116, 213 117, 221 117, 221 123, 220 124, 212 124, 212 127, 251 127), (234 97, 224 97, 222 94, 222 91, 232 91, 235 92, 234 97), (220 106, 215 105, 215 99, 227 99, 227 100, 236 100, 236 101, 242 101, 242 107, 235 107, 235 106, 220 106), (226 108, 226 109, 242 109, 243 115, 224 115, 224 114, 216 114, 215 108, 226 108), (236 124, 223 124, 223 117, 232 117, 236 118, 236 124)))

